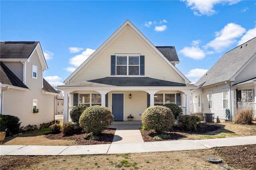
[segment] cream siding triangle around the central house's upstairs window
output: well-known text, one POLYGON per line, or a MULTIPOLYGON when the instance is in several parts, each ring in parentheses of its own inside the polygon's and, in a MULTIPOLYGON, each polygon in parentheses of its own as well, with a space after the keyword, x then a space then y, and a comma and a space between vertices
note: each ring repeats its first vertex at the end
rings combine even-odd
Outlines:
POLYGON ((78 77, 71 83, 110 77, 110 56, 116 54, 145 55, 144 77, 184 83, 129 28, 114 40, 82 73, 79 73, 78 77))

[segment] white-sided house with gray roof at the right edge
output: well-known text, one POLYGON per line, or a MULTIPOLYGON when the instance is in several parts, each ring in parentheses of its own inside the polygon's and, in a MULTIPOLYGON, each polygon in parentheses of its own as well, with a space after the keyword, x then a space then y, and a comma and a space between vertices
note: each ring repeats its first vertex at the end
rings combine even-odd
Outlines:
POLYGON ((214 113, 223 122, 248 108, 256 118, 256 38, 225 53, 195 85, 192 113, 214 113))

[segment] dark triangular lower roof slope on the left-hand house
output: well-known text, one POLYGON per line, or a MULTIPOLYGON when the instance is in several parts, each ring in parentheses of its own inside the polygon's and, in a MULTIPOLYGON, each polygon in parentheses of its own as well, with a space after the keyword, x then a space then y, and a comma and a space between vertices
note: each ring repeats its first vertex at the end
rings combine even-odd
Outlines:
POLYGON ((3 62, 0 62, 0 82, 3 85, 28 89, 28 87, 24 85, 24 83, 3 62))

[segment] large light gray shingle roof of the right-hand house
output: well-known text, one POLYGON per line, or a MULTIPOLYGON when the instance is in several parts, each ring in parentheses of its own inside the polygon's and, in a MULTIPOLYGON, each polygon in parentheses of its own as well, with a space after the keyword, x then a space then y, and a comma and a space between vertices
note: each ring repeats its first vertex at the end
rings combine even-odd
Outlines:
POLYGON ((231 81, 243 66, 256 57, 256 37, 226 52, 196 83, 205 87, 231 81))

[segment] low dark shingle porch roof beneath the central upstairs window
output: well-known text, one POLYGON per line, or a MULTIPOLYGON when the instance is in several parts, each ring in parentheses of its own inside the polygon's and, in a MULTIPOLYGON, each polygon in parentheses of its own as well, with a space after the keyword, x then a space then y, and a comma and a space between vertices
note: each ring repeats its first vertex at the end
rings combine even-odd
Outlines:
POLYGON ((186 86, 186 84, 152 79, 150 77, 105 77, 102 79, 95 79, 95 80, 83 81, 79 83, 61 85, 60 87, 106 87, 106 86, 120 86, 120 87, 158 86, 158 87, 161 87, 161 86, 186 86))

